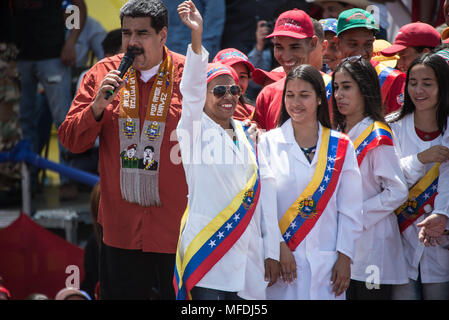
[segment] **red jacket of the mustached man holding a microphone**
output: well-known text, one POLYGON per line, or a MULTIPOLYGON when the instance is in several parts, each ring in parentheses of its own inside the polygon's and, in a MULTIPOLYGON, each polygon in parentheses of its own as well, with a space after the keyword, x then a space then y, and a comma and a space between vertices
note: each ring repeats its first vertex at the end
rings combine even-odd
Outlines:
MULTIPOLYGON (((181 159, 178 142, 176 139, 171 141, 171 133, 176 130, 181 116, 179 83, 185 57, 171 51, 169 54, 173 58, 175 75, 159 162, 160 208, 142 207, 127 202, 121 196, 118 96, 104 110, 98 122, 90 108, 100 82, 110 70, 118 68, 123 54, 103 59, 89 70, 58 130, 61 143, 74 153, 92 148, 96 137, 100 136, 101 196, 98 222, 103 227, 103 241, 109 246, 145 252, 176 252, 181 216, 187 205, 187 183, 182 163, 173 163, 171 160, 171 155, 181 159)), ((154 79, 147 83, 138 81, 140 110, 146 110, 152 81, 154 79)), ((141 123, 144 113, 140 113, 141 123)))

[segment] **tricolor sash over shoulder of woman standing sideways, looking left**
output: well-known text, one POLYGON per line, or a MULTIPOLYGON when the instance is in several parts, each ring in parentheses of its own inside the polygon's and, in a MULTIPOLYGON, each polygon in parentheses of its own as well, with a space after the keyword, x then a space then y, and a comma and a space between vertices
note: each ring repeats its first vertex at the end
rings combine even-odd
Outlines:
POLYGON ((354 149, 359 166, 368 151, 380 145, 392 146, 392 133, 390 127, 387 124, 380 121, 374 121, 354 141, 354 149))

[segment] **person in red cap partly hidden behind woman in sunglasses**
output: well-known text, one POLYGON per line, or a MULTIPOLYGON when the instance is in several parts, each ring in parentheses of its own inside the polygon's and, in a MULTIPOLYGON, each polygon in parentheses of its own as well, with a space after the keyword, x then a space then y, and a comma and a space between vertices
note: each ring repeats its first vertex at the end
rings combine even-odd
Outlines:
POLYGON ((246 101, 244 95, 246 89, 248 89, 249 79, 255 70, 253 64, 248 60, 248 57, 243 52, 234 48, 219 51, 212 62, 219 62, 232 67, 239 77, 238 84, 242 92, 232 117, 239 121, 251 119, 254 112, 254 106, 246 101))

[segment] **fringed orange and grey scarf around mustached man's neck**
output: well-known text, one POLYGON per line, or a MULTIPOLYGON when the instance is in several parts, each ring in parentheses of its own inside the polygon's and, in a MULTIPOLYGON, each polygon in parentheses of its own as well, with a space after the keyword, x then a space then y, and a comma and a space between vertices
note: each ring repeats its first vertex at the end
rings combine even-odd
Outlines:
POLYGON ((160 206, 159 161, 165 122, 173 92, 174 64, 164 47, 164 60, 151 88, 140 130, 137 73, 130 67, 120 91, 120 190, 123 199, 141 206, 160 206))

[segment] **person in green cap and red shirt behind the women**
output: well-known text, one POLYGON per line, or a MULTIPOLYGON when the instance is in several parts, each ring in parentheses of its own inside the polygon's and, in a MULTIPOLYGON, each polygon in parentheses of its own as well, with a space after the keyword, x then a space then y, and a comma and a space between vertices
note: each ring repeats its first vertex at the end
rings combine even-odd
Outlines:
POLYGON ((360 55, 370 60, 379 76, 384 114, 401 108, 404 100, 405 73, 371 60, 375 33, 379 27, 374 16, 363 9, 350 9, 338 16, 337 36, 334 38, 340 58, 360 55))

